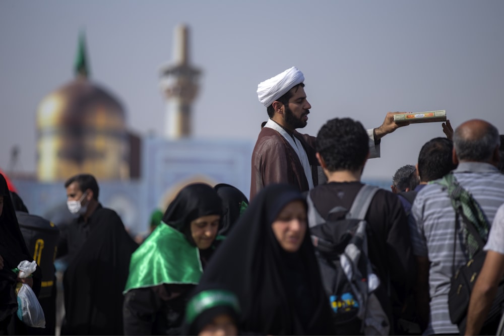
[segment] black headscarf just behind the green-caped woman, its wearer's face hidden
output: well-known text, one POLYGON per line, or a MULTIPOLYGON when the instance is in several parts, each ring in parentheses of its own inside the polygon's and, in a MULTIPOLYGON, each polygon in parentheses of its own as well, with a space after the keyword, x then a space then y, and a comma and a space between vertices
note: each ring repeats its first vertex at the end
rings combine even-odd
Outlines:
POLYGON ((217 184, 214 189, 222 199, 222 226, 219 234, 227 236, 240 217, 243 205, 248 206, 248 199, 238 188, 226 183, 217 184))

